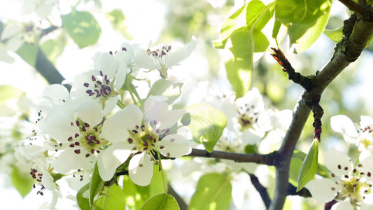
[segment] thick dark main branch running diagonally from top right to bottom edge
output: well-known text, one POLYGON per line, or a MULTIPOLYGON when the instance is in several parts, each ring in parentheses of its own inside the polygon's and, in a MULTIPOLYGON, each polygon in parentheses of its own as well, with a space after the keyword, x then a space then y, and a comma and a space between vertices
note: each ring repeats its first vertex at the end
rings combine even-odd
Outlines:
POLYGON ((279 158, 276 158, 276 191, 269 209, 282 209, 288 190, 290 160, 295 145, 300 137, 310 109, 306 104, 307 99, 320 97, 323 90, 341 73, 346 66, 354 62, 367 45, 367 41, 373 34, 372 11, 365 10, 364 14, 357 18, 350 36, 344 36, 337 44, 330 62, 325 65, 314 78, 314 87, 311 92, 304 91, 293 112, 293 121, 286 132, 283 144, 279 150, 279 158))

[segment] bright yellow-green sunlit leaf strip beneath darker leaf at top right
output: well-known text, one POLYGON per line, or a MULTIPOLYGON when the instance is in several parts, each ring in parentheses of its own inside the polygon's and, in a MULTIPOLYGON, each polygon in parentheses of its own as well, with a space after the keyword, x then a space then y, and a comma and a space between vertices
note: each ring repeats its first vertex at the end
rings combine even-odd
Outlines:
POLYGON ((330 10, 325 15, 322 15, 316 21, 313 27, 307 29, 306 33, 297 41, 297 52, 302 53, 313 45, 318 37, 323 34, 326 24, 328 23, 330 10))

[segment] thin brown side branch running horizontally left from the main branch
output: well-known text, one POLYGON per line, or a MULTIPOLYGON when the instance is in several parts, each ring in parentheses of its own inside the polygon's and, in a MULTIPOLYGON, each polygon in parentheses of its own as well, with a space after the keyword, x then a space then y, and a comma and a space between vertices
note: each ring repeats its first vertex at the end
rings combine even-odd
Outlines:
POLYGON ((226 160, 234 160, 235 162, 255 162, 258 164, 264 165, 274 165, 274 161, 276 159, 276 152, 269 153, 266 155, 260 154, 239 154, 239 153, 228 153, 222 151, 213 151, 209 153, 206 150, 200 150, 193 148, 192 153, 185 156, 190 157, 202 157, 202 158, 219 158, 219 159, 226 159, 226 160))

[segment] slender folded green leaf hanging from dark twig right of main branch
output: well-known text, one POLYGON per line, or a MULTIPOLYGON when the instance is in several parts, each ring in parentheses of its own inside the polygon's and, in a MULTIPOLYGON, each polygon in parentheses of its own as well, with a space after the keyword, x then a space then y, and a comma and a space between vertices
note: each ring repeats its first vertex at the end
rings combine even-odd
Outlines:
POLYGON ((297 191, 301 190, 314 176, 317 172, 318 165, 318 142, 314 140, 312 142, 309 153, 302 163, 300 168, 300 174, 298 176, 298 187, 297 191))

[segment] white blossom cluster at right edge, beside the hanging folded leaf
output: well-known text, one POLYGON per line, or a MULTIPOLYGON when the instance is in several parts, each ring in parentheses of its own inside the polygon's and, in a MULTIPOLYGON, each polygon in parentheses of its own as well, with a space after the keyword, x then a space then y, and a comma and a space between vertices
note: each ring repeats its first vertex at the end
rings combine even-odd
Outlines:
POLYGON ((347 116, 333 116, 332 129, 343 135, 349 144, 358 146, 358 160, 332 148, 325 152, 325 166, 330 169, 329 178, 314 179, 306 187, 317 202, 336 200, 333 209, 372 209, 373 119, 361 116, 360 126, 347 116))

